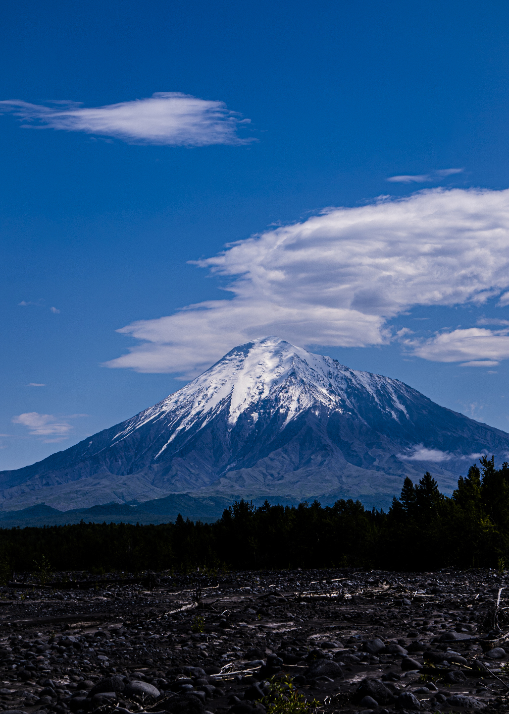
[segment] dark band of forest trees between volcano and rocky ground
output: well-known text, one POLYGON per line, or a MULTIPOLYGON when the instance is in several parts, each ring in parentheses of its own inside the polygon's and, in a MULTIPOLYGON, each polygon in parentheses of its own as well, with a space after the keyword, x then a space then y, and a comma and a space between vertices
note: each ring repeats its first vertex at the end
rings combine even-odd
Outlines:
POLYGON ((509 565, 509 464, 483 456, 444 496, 426 471, 406 477, 388 513, 340 499, 299 506, 236 501, 215 523, 140 526, 81 523, 0 530, 0 579, 7 573, 85 570, 263 570, 376 568, 436 570, 509 565))

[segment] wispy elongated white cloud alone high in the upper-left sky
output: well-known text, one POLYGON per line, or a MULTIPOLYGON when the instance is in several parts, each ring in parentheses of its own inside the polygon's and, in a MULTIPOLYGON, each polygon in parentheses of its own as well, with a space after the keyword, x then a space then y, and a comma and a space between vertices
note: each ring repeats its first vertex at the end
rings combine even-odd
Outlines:
POLYGON ((86 108, 76 102, 29 104, 18 99, 0 101, 0 114, 14 114, 37 129, 83 131, 113 136, 129 144, 210 146, 246 144, 237 129, 249 119, 228 111, 222 101, 197 99, 180 92, 156 92, 148 99, 86 108))

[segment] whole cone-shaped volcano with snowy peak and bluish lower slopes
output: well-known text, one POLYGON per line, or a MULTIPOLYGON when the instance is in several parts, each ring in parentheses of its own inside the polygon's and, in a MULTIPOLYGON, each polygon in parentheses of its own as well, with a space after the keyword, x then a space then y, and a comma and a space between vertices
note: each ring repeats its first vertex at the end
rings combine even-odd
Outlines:
POLYGON ((450 491, 509 434, 396 379, 275 337, 238 346, 127 421, 17 471, 0 508, 146 501, 170 493, 387 501, 428 469, 450 491))

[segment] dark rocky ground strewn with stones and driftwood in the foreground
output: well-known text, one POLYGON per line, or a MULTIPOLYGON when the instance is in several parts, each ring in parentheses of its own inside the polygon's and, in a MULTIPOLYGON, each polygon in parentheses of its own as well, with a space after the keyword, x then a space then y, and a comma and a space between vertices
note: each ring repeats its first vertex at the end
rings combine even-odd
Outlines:
POLYGON ((53 580, 0 588, 3 710, 264 714, 278 694, 278 714, 292 696, 292 714, 304 698, 345 714, 509 708, 495 570, 53 580))

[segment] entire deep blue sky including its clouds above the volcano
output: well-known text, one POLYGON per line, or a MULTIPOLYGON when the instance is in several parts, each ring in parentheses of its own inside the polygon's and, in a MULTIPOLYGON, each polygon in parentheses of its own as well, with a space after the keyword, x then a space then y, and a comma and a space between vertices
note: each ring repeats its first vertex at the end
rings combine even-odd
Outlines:
POLYGON ((0 468, 265 334, 508 431, 508 15, 6 7, 0 468))

